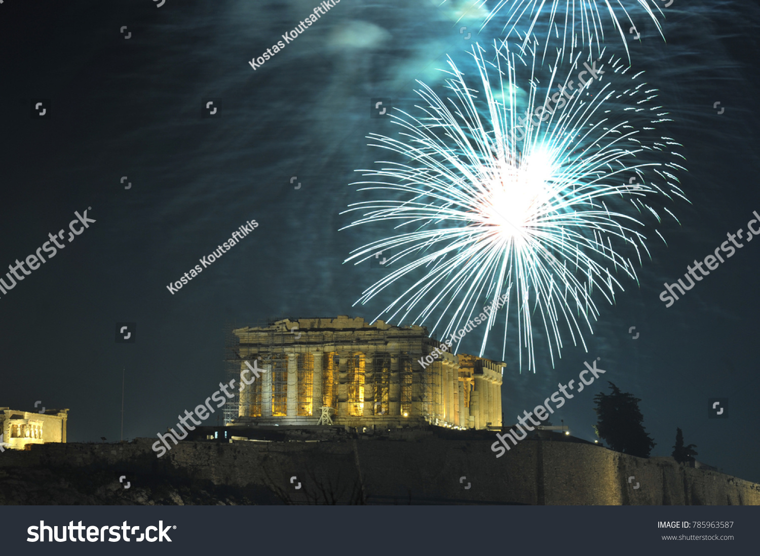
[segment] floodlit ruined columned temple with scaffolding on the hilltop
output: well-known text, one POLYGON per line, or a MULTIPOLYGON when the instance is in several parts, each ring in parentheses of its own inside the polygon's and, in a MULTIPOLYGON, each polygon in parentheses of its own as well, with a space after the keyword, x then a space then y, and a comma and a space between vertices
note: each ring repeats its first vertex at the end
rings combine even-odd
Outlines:
POLYGON ((423 368, 439 346, 425 327, 341 315, 233 333, 236 368, 267 372, 239 393, 231 425, 502 425, 505 363, 445 353, 423 368))

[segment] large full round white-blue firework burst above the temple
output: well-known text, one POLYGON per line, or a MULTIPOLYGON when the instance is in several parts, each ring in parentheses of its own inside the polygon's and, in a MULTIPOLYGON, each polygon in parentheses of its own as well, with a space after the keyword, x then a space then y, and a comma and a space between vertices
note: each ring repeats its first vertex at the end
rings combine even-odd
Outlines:
MULTIPOLYGON (((534 315, 546 332, 554 362, 555 352, 562 348, 563 328, 574 344, 580 341, 584 347, 581 328, 593 333, 591 321, 598 314, 591 297, 594 288, 609 302, 616 288, 622 290, 610 267, 635 280, 634 264, 615 245, 631 246, 641 264, 640 249, 648 254, 646 238, 633 228, 643 224, 618 208, 630 207, 630 202, 639 213, 648 210, 659 221, 657 210, 646 202, 648 196, 685 197, 674 177, 682 167, 651 160, 653 154, 660 159, 680 156, 666 152, 677 144, 667 137, 639 139, 654 131, 655 123, 667 121, 666 114, 660 106, 646 106, 654 90, 638 82, 639 74, 628 76, 629 68, 619 59, 606 62, 605 74, 611 77, 606 83, 592 81, 582 93, 570 96, 565 109, 558 104, 545 121, 526 122, 518 140, 518 73, 530 74, 525 81, 530 84, 527 109, 532 114, 536 106, 549 105, 562 57, 559 52, 541 87, 537 43, 531 46, 509 52, 506 41, 495 45, 495 62, 486 62, 484 49, 473 46, 480 96, 451 59, 447 87, 454 95, 448 103, 418 81, 422 89, 416 92, 426 106, 417 108, 425 116, 397 110, 401 116, 394 115, 393 122, 404 130, 401 140, 369 136, 376 141, 371 146, 407 157, 409 163, 381 162, 388 166, 361 172, 389 181, 353 184, 367 185, 359 191, 394 191, 401 200, 364 201, 351 204, 344 213, 364 211, 346 228, 397 221, 396 229, 408 230, 352 251, 346 262, 359 264, 377 251, 391 249, 391 268, 405 263, 366 289, 357 303, 413 278, 378 317, 390 314, 388 320, 406 321, 418 308, 412 321, 422 324, 435 318, 432 332, 444 327, 448 336, 477 314, 480 299, 497 299, 506 292, 502 357, 514 305, 520 366, 524 349, 527 368, 535 370, 534 315), (498 83, 492 87, 494 73, 498 83), (613 80, 625 81, 624 90, 613 90, 613 80), (642 183, 631 185, 632 180, 625 179, 629 175, 642 183)), ((564 87, 578 71, 579 58, 564 87)), ((495 319, 492 312, 480 355, 495 319)))

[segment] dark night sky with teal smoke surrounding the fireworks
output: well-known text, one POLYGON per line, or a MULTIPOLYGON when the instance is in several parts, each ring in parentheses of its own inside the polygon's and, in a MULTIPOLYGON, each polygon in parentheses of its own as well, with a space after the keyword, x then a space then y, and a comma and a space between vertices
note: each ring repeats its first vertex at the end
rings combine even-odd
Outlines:
MULTIPOLYGON (((350 223, 340 212, 370 198, 350 185, 356 169, 387 160, 366 135, 397 132, 370 118, 370 100, 413 111, 415 79, 444 94, 435 68, 446 55, 471 70, 465 49, 499 36, 496 23, 477 35, 482 14, 458 23, 459 4, 342 0, 254 71, 249 60, 318 2, 5 0, 0 266, 34 254, 49 233, 63 229, 66 239, 0 294, 0 406, 66 407, 69 441, 118 441, 123 368, 124 436, 151 437, 218 389, 233 324, 376 317, 391 299, 352 305, 380 275, 343 261, 391 227, 338 232, 350 223), (49 118, 32 117, 33 100, 49 118), (208 101, 218 112, 204 118, 208 101), (68 242, 69 223, 84 210, 96 222, 68 242), (250 220, 259 224, 252 234, 169 292, 250 220), (137 324, 135 343, 115 342, 117 322, 137 324)), ((667 42, 639 14, 642 41, 631 55, 674 120, 690 203, 671 207, 680 226, 660 227, 667 245, 651 234, 638 283, 619 275, 625 291, 614 305, 596 299, 587 352, 567 337, 552 367, 537 331, 537 371, 520 371, 508 336, 505 424, 599 357, 603 378, 641 398, 653 456, 670 455, 679 427, 698 460, 760 482, 760 241, 670 308, 659 299, 664 282, 760 213, 758 7, 675 0, 663 12, 667 42), (728 399, 727 419, 708 419, 710 398, 728 399)), ((622 54, 619 36, 608 44, 622 54)), ((484 356, 502 360, 502 332, 484 356)), ((460 352, 479 349, 473 334, 460 352)), ((592 398, 602 389, 597 382, 568 400, 553 424, 564 419, 593 441, 592 398)))

